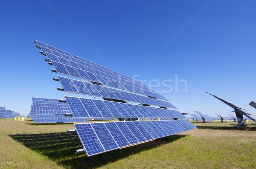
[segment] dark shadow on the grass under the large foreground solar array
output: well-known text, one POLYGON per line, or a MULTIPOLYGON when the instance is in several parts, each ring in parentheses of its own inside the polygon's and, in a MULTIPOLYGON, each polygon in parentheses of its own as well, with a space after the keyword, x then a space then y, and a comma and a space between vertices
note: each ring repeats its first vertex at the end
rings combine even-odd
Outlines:
MULTIPOLYGON (((46 133, 46 134, 23 134, 23 135, 9 135, 15 141, 22 143, 24 146, 32 149, 41 155, 47 156, 52 161, 56 161, 58 165, 64 168, 97 168, 104 166, 108 163, 118 161, 122 158, 128 157, 160 146, 162 144, 176 141, 186 135, 171 135, 165 138, 157 139, 156 141, 150 141, 141 146, 124 149, 116 149, 103 154, 87 157, 85 153, 75 155, 74 152, 77 149, 82 149, 81 142, 76 133, 68 134, 61 133, 46 133), (153 143, 154 142, 154 143, 153 143)), ((137 145, 138 146, 138 145, 137 145)))

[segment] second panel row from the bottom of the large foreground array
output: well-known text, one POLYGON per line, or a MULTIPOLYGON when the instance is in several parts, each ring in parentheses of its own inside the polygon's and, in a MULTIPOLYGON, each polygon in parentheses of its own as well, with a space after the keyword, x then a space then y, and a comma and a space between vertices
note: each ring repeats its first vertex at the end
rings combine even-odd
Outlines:
POLYGON ((64 96, 75 118, 134 117, 183 118, 177 110, 64 96))

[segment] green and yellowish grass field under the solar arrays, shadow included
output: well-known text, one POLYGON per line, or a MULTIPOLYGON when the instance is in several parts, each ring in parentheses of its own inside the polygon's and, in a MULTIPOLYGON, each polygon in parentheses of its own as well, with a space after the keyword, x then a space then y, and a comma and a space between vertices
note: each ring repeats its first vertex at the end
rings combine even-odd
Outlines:
POLYGON ((256 168, 256 123, 233 130, 236 123, 192 122, 196 130, 142 145, 87 157, 73 124, 33 124, 32 119, 0 119, 0 168, 256 168))

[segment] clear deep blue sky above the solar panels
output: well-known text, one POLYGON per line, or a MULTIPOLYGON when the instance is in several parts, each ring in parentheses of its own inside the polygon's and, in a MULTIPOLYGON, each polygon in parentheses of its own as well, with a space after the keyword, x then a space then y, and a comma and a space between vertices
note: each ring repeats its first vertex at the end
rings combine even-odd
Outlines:
POLYGON ((248 105, 256 101, 256 1, 209 3, 4 1, 0 6, 0 106, 27 115, 32 97, 63 99, 67 95, 56 90, 61 87, 52 81, 57 73, 50 71, 52 66, 35 48, 37 39, 127 76, 139 75, 139 80, 172 79, 168 85, 175 88, 175 75, 185 79, 187 93, 180 83, 178 93, 163 94, 181 112, 231 113, 209 91, 256 115, 248 105))

